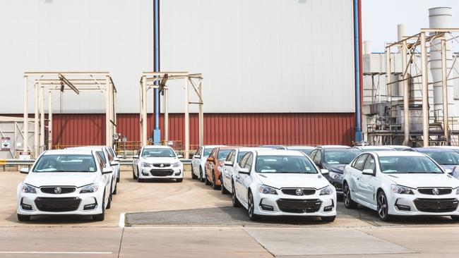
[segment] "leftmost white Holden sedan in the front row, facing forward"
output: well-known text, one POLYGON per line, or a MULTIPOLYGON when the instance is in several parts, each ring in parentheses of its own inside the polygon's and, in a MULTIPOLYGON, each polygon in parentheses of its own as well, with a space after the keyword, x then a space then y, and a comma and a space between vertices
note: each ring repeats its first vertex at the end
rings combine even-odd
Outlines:
POLYGON ((18 185, 19 221, 30 216, 77 214, 105 219, 110 208, 112 168, 89 149, 59 149, 41 154, 20 173, 28 173, 18 185))

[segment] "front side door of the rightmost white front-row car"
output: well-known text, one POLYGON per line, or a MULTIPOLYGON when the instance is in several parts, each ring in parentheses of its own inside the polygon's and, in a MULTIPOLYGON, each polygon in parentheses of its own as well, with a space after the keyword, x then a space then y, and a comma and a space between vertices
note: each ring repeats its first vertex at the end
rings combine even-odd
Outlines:
POLYGON ((361 197, 363 202, 366 202, 371 205, 376 205, 376 187, 378 185, 378 179, 376 178, 376 162, 375 157, 372 154, 369 154, 366 158, 364 168, 362 171, 366 169, 371 169, 373 171, 372 175, 367 175, 364 173, 360 174, 360 178, 358 180, 359 185, 359 196, 361 197))

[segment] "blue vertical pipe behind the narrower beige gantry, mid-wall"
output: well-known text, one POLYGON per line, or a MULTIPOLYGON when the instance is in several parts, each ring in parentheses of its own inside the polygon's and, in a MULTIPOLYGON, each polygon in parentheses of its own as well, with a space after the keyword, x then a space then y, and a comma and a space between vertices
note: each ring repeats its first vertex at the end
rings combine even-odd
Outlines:
MULTIPOLYGON (((154 20, 154 39, 153 48, 155 51, 153 71, 160 71, 160 12, 159 12, 160 0, 153 0, 153 20, 154 20)), ((156 81, 155 85, 159 85, 156 81)), ((158 144, 161 140, 160 133, 160 92, 155 89, 155 130, 153 131, 153 142, 158 144)))

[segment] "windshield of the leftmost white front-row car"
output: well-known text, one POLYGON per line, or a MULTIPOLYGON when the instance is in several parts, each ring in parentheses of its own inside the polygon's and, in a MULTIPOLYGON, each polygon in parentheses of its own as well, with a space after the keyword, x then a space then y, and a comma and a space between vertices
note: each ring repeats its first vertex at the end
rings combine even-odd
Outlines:
POLYGON ((38 159, 33 172, 95 172, 93 155, 55 154, 38 159))

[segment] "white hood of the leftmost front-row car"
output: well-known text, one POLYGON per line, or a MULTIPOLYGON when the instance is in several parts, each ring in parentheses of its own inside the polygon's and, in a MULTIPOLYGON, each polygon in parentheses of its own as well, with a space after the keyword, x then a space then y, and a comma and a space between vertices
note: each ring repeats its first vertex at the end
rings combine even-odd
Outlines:
POLYGON ((40 188, 42 186, 76 186, 94 183, 100 172, 35 172, 29 173, 24 183, 40 188))

